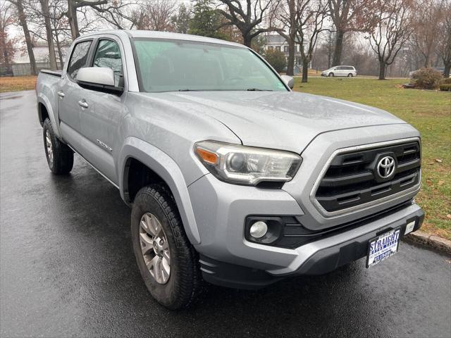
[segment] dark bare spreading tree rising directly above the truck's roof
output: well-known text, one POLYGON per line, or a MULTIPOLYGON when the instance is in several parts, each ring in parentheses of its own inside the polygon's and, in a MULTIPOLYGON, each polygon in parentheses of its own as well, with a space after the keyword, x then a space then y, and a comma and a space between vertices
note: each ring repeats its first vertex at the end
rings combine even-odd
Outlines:
POLYGON ((273 1, 277 0, 219 0, 226 5, 226 10, 218 8, 226 22, 223 25, 235 25, 241 32, 243 42, 246 46, 252 46, 252 39, 263 32, 273 32, 277 27, 261 28, 273 1), (243 6, 244 5, 244 6, 243 6))

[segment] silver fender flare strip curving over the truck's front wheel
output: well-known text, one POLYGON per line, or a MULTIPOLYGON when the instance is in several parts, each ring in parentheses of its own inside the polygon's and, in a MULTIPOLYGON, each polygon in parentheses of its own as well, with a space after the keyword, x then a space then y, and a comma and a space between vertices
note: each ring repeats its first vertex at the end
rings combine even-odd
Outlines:
POLYGON ((177 163, 168 154, 152 146, 152 144, 142 141, 142 139, 137 139, 136 137, 125 139, 118 158, 118 163, 121 164, 119 166, 120 172, 118 173, 118 177, 121 197, 124 201, 127 200, 125 196, 125 187, 127 187, 125 163, 127 163, 128 158, 135 158, 141 161, 168 184, 177 203, 188 239, 190 239, 192 244, 200 244, 199 230, 197 229, 196 219, 194 218, 190 194, 188 193, 183 173, 177 163))

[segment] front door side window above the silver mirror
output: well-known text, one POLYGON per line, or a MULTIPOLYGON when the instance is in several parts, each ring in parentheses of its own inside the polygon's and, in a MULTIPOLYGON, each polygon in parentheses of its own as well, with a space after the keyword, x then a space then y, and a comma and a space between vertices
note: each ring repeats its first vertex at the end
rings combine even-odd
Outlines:
POLYGON ((114 85, 116 87, 124 87, 121 49, 119 49, 117 42, 100 40, 92 67, 111 68, 114 72, 114 85))

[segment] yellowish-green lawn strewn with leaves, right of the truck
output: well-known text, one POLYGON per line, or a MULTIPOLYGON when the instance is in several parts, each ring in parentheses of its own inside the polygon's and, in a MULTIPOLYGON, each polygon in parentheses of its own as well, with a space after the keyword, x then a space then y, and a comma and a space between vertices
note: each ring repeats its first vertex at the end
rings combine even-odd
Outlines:
POLYGON ((402 89, 407 79, 312 77, 295 79, 295 90, 368 104, 389 111, 421 132, 422 230, 451 239, 451 93, 402 89))

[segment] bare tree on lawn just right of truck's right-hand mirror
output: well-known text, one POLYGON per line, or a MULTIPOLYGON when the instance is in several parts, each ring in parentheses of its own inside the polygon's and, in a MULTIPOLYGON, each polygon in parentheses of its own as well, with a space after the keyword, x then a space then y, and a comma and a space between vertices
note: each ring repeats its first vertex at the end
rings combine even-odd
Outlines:
POLYGON ((326 30, 324 22, 328 15, 327 3, 323 0, 296 0, 296 40, 302 58, 302 82, 307 82, 309 63, 314 54, 319 34, 326 30))

